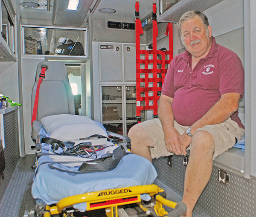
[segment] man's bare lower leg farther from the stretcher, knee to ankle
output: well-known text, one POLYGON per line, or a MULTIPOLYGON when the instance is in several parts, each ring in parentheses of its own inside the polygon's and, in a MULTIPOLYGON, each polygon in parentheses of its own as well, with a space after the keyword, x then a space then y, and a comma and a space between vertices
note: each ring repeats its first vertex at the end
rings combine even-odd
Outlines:
POLYGON ((215 140, 209 132, 198 130, 190 146, 182 199, 187 205, 186 217, 192 217, 193 208, 211 177, 215 140))

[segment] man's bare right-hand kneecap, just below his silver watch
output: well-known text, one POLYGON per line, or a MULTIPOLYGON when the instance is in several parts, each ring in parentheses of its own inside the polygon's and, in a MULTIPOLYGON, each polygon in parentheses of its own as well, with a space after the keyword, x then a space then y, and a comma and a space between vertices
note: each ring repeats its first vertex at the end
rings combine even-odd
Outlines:
POLYGON ((192 138, 191 152, 213 155, 215 150, 215 140, 211 133, 205 130, 198 130, 192 138))

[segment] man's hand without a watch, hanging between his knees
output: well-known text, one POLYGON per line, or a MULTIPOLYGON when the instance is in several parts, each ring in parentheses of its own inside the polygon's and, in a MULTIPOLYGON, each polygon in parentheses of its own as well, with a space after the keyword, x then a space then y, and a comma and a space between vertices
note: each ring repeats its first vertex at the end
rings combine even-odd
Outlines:
POLYGON ((172 130, 168 130, 168 132, 164 133, 164 142, 167 150, 171 153, 175 153, 176 155, 181 154, 179 138, 180 133, 178 133, 175 128, 172 128, 172 130))

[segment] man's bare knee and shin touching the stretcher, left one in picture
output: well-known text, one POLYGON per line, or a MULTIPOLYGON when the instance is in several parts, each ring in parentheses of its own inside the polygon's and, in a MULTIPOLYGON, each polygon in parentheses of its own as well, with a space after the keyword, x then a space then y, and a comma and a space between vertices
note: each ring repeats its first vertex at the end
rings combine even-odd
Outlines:
POLYGON ((138 124, 134 125, 129 130, 128 137, 131 139, 131 152, 143 156, 152 162, 149 147, 154 147, 154 141, 143 127, 138 124))

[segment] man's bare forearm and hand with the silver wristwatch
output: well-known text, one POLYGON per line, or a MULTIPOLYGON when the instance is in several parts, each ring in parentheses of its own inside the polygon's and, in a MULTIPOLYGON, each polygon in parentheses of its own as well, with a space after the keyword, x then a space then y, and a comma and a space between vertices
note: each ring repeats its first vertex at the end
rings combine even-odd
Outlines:
MULTIPOLYGON (((209 109, 209 111, 197 122, 192 124, 191 133, 194 134, 198 128, 205 125, 219 124, 226 121, 239 107, 239 93, 225 93, 220 100, 209 109)), ((180 136, 180 149, 183 155, 186 155, 186 148, 191 143, 192 138, 186 133, 180 136)))

